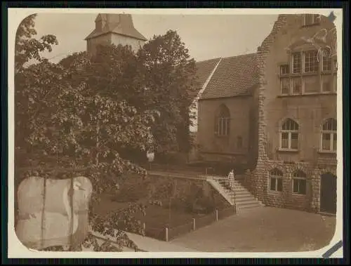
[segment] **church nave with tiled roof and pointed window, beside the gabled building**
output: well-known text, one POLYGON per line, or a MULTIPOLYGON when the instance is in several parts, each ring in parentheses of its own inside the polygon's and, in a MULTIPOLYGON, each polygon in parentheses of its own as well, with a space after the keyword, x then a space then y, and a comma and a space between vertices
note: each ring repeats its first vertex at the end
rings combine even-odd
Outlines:
POLYGON ((197 63, 199 160, 253 167, 258 154, 256 53, 197 63))

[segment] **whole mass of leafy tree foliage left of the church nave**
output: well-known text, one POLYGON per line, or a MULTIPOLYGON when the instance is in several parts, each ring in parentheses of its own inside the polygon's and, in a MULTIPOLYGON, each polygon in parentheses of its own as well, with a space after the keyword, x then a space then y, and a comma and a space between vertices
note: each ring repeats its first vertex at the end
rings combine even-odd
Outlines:
MULTIPOLYGON (((99 46, 93 58, 74 53, 54 64, 41 51, 51 51, 57 40, 34 39, 34 18, 22 21, 15 44, 15 146, 26 159, 48 164, 53 158, 56 167, 84 168, 98 201, 128 171, 146 173, 124 156, 126 150, 186 149, 194 60, 176 32, 154 36, 138 53, 128 46, 99 46), (38 62, 24 67, 32 59, 38 62)), ((16 164, 24 166, 19 158, 16 164)), ((41 174, 48 175, 43 169, 41 174)), ((137 207, 122 213, 132 216, 137 207)), ((120 215, 91 216, 91 222, 117 238, 125 236, 122 229, 141 230, 131 227, 130 218, 121 228, 120 215)), ((91 236, 87 241, 96 244, 91 236)))

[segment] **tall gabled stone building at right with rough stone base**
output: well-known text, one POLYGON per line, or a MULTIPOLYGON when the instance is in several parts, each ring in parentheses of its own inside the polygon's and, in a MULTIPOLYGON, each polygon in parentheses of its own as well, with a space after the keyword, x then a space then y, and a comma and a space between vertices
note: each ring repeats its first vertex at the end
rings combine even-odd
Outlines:
POLYGON ((333 22, 322 15, 279 15, 259 48, 258 69, 251 191, 267 206, 336 213, 333 22))

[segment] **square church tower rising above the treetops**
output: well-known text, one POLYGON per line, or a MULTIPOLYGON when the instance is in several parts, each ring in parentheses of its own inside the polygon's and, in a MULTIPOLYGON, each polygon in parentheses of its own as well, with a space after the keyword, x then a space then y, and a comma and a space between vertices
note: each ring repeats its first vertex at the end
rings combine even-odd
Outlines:
POLYGON ((130 14, 99 14, 95 19, 95 29, 86 37, 89 55, 96 53, 99 44, 130 45, 138 51, 147 39, 133 25, 130 14))

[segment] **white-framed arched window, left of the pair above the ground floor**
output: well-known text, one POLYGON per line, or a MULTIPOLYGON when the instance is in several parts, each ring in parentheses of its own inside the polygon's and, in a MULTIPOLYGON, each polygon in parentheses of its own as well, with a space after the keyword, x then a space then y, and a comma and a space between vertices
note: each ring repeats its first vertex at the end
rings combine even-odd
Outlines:
POLYGON ((298 149, 298 124, 293 119, 286 119, 280 132, 281 149, 298 149))

